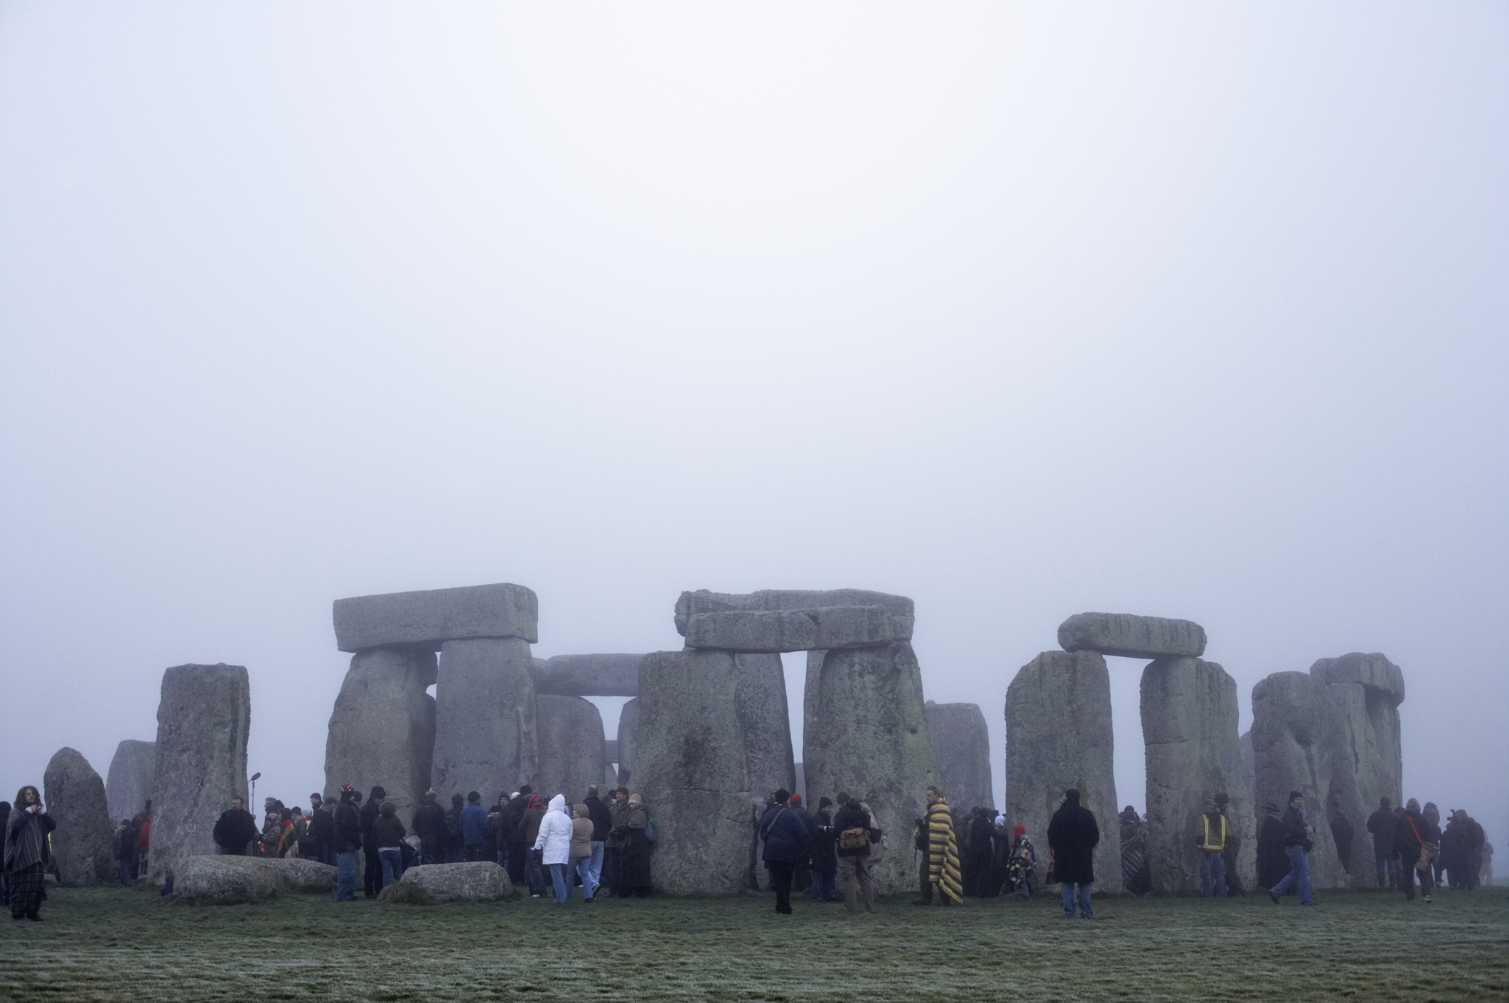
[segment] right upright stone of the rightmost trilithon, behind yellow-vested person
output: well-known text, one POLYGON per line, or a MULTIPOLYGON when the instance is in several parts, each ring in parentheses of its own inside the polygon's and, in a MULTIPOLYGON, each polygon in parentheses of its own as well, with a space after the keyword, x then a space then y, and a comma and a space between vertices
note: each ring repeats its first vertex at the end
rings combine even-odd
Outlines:
POLYGON ((1142 670, 1147 861, 1154 891, 1200 893, 1200 817, 1218 795, 1240 839, 1242 887, 1257 876, 1257 820, 1242 778, 1236 680, 1215 662, 1160 658, 1142 670))

